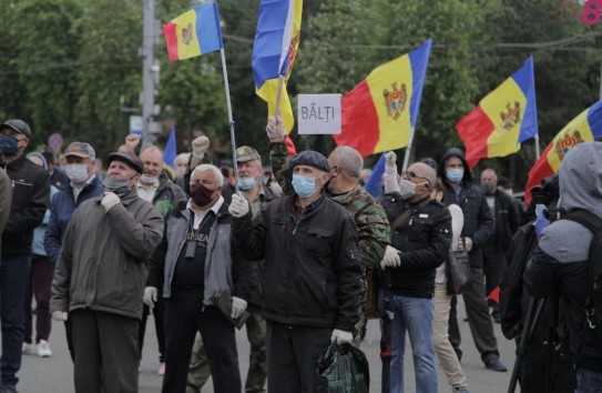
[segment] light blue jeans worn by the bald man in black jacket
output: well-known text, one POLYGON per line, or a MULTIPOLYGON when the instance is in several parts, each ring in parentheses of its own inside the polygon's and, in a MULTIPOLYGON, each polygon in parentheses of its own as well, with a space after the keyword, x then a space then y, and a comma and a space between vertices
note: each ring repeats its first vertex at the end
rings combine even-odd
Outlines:
POLYGON ((391 393, 404 392, 406 331, 410 337, 414 355, 416 392, 437 393, 437 366, 432 349, 432 299, 394 296, 391 393))

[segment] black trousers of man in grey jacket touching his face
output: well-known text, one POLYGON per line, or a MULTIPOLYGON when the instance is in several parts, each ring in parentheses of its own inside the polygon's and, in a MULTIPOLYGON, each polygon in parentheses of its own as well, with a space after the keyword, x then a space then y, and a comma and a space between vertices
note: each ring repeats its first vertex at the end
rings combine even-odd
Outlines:
POLYGON ((76 393, 137 393, 139 320, 90 309, 69 313, 76 393), (103 389, 104 386, 104 389, 103 389))

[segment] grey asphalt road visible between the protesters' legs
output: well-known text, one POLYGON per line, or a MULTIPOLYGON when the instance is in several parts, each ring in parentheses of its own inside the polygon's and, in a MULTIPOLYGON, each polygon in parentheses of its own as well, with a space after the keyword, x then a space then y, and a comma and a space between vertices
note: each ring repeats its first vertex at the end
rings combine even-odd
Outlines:
MULTIPOLYGON (((506 373, 489 371, 484 369, 479 352, 475 347, 468 322, 462 322, 466 316, 463 303, 460 301, 458 310, 460 318, 460 330, 462 334, 462 367, 467 374, 470 392, 475 393, 502 393, 507 392, 510 381, 511 369, 514 363, 514 344, 507 341, 501 334, 500 326, 494 324, 496 336, 500 350, 500 359, 508 366, 506 373)), ((151 315, 152 318, 152 315, 151 315)), ((154 323, 146 324, 146 339, 144 341, 143 360, 140 372, 140 393, 161 392, 162 376, 156 374, 159 367, 157 344, 154 333, 154 323)), ((370 363, 370 392, 380 392, 380 357, 379 353, 380 332, 377 321, 370 321, 366 340, 361 343, 361 350, 366 353, 370 363)), ((248 342, 243 331, 237 332, 238 357, 243 381, 248 367, 248 342)), ((21 379, 18 390, 20 393, 71 393, 73 389, 73 365, 67 350, 64 326, 62 323, 53 322, 50 344, 53 352, 52 357, 40 359, 33 355, 24 355, 22 367, 18 376, 21 379)), ((415 392, 414 366, 411 353, 406 354, 406 392, 415 392)), ((438 369, 439 392, 451 392, 447 379, 441 369, 438 369)), ((213 392, 211 380, 203 389, 203 392, 213 392)))

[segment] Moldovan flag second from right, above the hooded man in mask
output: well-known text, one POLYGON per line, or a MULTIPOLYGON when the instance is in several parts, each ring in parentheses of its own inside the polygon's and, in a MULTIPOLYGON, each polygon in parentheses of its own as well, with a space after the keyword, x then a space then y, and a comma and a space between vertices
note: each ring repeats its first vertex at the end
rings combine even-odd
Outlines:
POLYGON ((456 130, 466 145, 470 168, 480 159, 519 151, 521 142, 538 133, 533 58, 529 57, 524 66, 460 119, 456 130))

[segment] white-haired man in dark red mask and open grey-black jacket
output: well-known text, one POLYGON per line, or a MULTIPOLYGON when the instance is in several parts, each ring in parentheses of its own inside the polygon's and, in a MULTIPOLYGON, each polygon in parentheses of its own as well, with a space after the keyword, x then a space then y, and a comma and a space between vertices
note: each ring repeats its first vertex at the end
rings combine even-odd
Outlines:
POLYGON ((241 392, 234 324, 216 300, 232 295, 228 316, 245 311, 248 266, 236 258, 231 242, 227 203, 221 195, 222 172, 201 164, 191 173, 191 199, 174 210, 165 235, 151 260, 146 291, 163 283, 165 306, 164 393, 184 393, 188 360, 196 332, 201 332, 216 392, 241 392))

